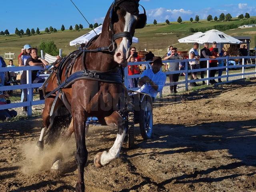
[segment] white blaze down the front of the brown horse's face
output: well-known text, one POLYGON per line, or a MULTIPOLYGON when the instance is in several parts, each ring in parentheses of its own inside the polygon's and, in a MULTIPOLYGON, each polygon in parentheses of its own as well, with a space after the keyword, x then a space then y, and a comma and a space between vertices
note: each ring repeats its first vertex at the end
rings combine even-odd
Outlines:
MULTIPOLYGON (((124 19, 125 19, 124 31, 130 32, 132 29, 132 24, 136 21, 137 16, 126 12, 124 19)), ((116 53, 121 52, 122 59, 127 59, 129 56, 129 51, 130 51, 130 40, 127 39, 126 37, 123 37, 122 42, 119 44, 119 46, 116 49, 116 53)), ((116 58, 116 54, 114 56, 114 60, 118 62, 116 58)))

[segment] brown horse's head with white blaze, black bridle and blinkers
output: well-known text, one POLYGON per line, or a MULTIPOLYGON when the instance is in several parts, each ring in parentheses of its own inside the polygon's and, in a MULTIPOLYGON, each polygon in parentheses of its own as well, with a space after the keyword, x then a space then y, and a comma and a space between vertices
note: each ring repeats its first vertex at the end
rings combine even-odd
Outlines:
MULTIPOLYGON (((115 62, 127 61, 135 29, 146 25, 146 11, 139 14, 139 0, 115 0, 107 14, 115 62)), ((110 49, 111 49, 110 48, 110 49)), ((111 50, 110 50, 111 51, 111 50)))

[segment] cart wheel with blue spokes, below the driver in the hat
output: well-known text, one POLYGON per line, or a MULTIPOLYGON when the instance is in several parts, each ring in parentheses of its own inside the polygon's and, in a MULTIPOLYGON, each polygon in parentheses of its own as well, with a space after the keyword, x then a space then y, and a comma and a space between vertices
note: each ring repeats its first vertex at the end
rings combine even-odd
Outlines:
POLYGON ((140 109, 140 133, 144 140, 150 139, 153 133, 153 111, 148 101, 141 103, 140 109))

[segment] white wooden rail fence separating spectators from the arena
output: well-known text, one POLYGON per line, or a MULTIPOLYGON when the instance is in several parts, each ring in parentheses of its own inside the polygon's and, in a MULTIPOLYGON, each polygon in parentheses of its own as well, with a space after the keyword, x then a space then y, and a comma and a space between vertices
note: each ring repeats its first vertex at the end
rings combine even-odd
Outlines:
MULTIPOLYGON (((166 83, 165 86, 170 86, 170 85, 178 85, 178 84, 185 84, 186 85, 186 90, 188 90, 188 84, 192 83, 192 82, 198 82, 198 81, 202 81, 205 80, 207 82, 207 84, 209 84, 209 80, 212 79, 218 79, 218 78, 226 78, 226 82, 230 82, 229 77, 234 77, 234 76, 241 76, 241 78, 244 78, 245 75, 251 75, 251 74, 255 74, 256 75, 256 64, 244 64, 244 59, 245 58, 252 58, 252 59, 256 59, 256 56, 244 56, 244 57, 224 57, 224 58, 218 58, 217 60, 226 60, 226 64, 227 66, 223 66, 223 67, 209 67, 209 60, 216 60, 216 59, 200 59, 200 60, 207 60, 207 68, 203 68, 203 69, 195 69, 195 70, 188 70, 188 62, 190 61, 194 61, 194 59, 185 59, 185 60, 165 60, 163 61, 164 63, 170 63, 170 62, 185 62, 185 70, 181 70, 181 71, 169 71, 169 72, 164 72, 166 75, 168 74, 180 74, 180 73, 186 73, 185 76, 185 81, 180 81, 180 82, 174 82, 174 83, 166 83), (228 65, 228 61, 230 59, 242 59, 242 65, 236 65, 236 66, 229 66, 228 65), (255 72, 245 72, 245 68, 246 67, 255 67, 255 72), (230 68, 242 68, 242 73, 240 74, 229 74, 229 69, 230 68), (209 77, 210 74, 210 70, 218 70, 218 69, 226 69, 226 75, 223 76, 216 76, 216 77, 209 77), (204 79, 199 79, 199 80, 188 80, 188 73, 190 72, 200 72, 200 71, 207 71, 207 77, 204 79)), ((138 64, 147 64, 148 62, 130 62, 128 63, 128 65, 138 65, 138 64)), ((27 93, 24 94, 28 94, 28 100, 27 102, 18 102, 18 103, 11 103, 11 104, 4 104, 4 105, 0 105, 0 110, 3 109, 9 109, 9 108, 17 108, 17 107, 24 107, 27 106, 28 107, 28 116, 32 116, 32 106, 33 105, 38 105, 38 104, 44 104, 44 100, 39 100, 39 101, 33 101, 33 88, 38 88, 42 86, 42 83, 37 83, 37 84, 32 84, 32 76, 31 76, 31 72, 32 70, 44 70, 44 68, 42 66, 23 66, 23 67, 4 67, 4 68, 0 68, 0 72, 8 72, 8 71, 20 71, 20 70, 27 70, 27 84, 23 84, 23 85, 13 85, 13 86, 0 86, 0 91, 7 91, 7 90, 16 90, 16 89, 27 89, 27 93)), ((128 76, 128 68, 125 68, 125 80, 124 83, 126 85, 126 87, 128 87, 129 82, 128 79, 129 78, 138 78, 140 77, 141 74, 138 75, 131 75, 128 76)), ((161 96, 161 94, 160 94, 161 96)))

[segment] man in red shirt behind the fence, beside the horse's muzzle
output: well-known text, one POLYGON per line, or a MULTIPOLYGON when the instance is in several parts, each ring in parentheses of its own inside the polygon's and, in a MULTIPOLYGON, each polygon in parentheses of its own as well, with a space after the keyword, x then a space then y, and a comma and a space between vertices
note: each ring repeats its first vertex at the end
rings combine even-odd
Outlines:
MULTIPOLYGON (((133 62, 132 60, 134 60, 134 62, 141 61, 141 58, 136 52, 135 47, 132 47, 130 50, 130 57, 128 58, 128 62, 133 62)), ((128 75, 137 75, 137 74, 140 74, 140 68, 138 65, 128 66, 128 75), (129 72, 129 67, 130 67, 130 72, 129 72)), ((134 87, 138 87, 139 78, 133 78, 132 80, 134 82, 134 87)), ((131 88, 131 84, 130 84, 130 88, 131 88)))

